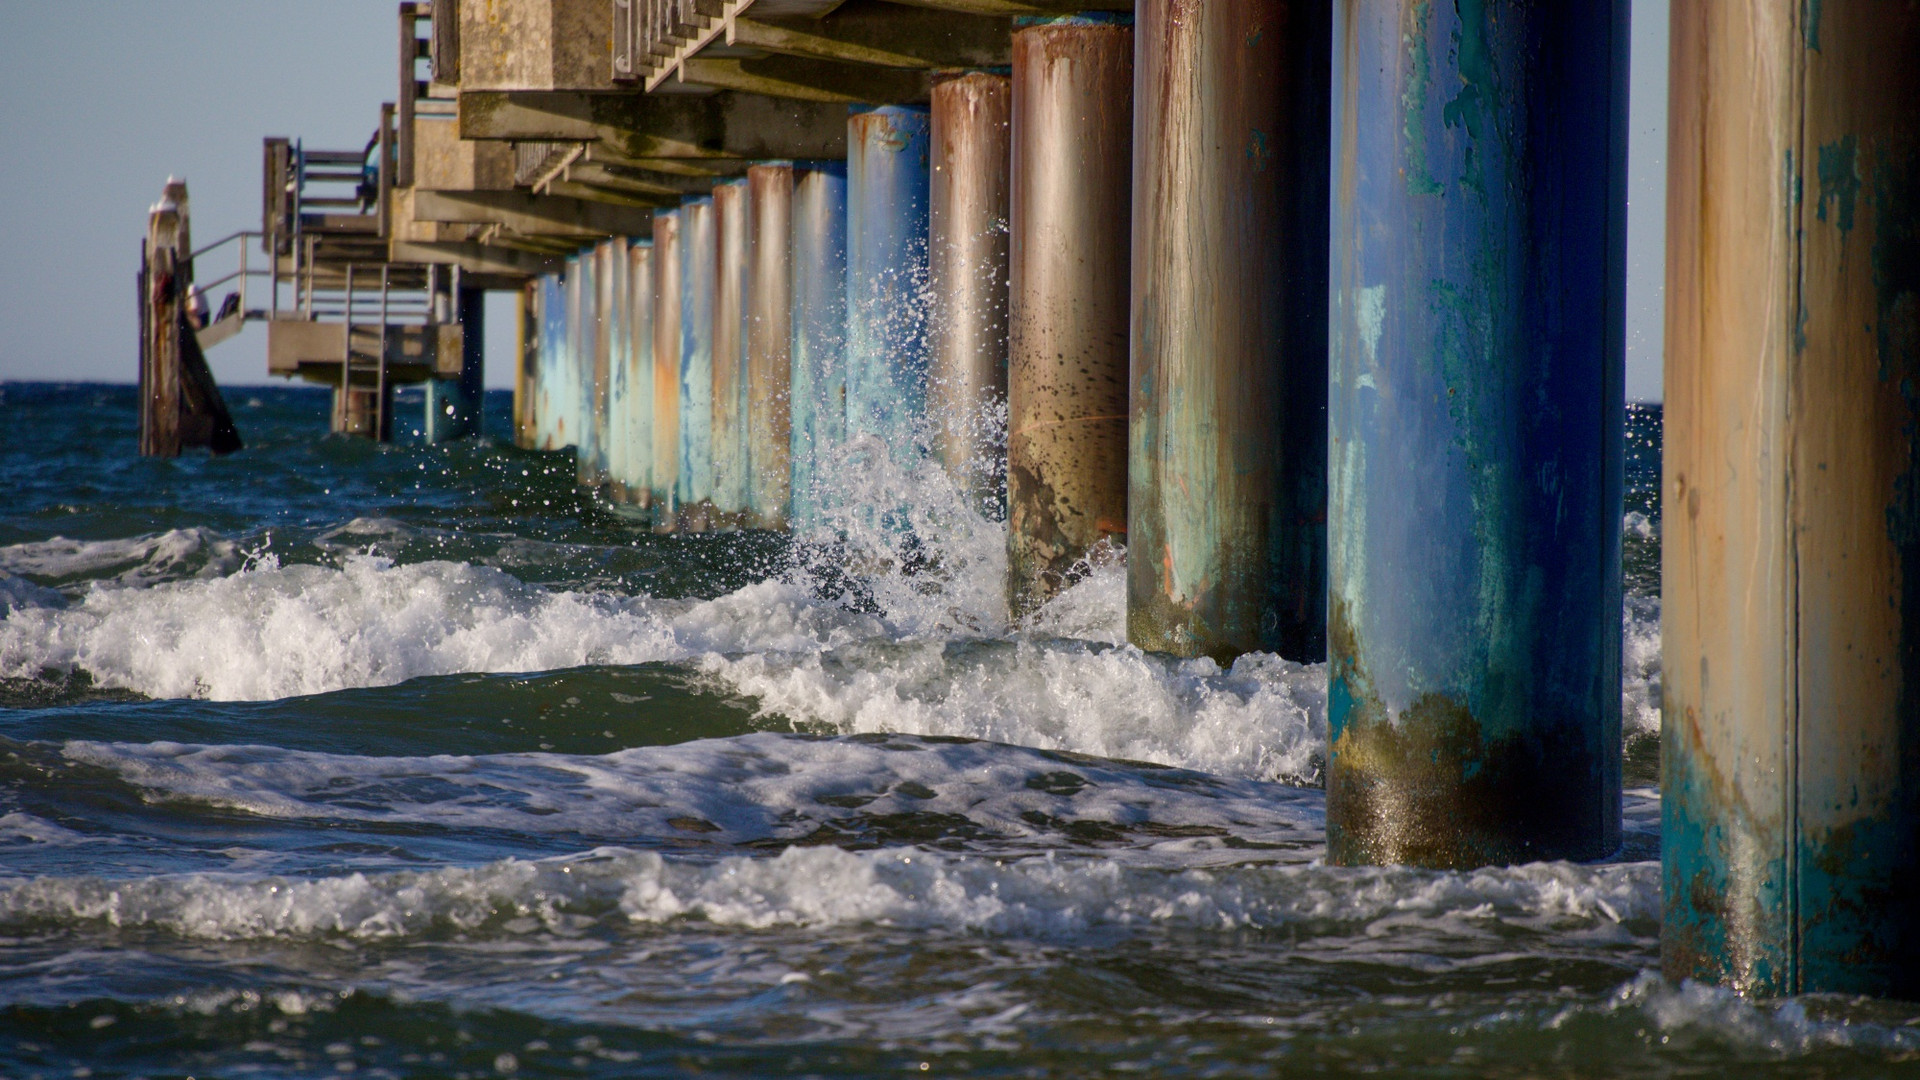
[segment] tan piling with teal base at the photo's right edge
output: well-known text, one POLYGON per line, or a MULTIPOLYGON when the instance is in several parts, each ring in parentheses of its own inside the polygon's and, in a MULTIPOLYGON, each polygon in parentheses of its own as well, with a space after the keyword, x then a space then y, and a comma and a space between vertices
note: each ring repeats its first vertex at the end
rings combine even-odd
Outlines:
POLYGON ((1661 959, 1920 997, 1920 12, 1672 6, 1661 959))

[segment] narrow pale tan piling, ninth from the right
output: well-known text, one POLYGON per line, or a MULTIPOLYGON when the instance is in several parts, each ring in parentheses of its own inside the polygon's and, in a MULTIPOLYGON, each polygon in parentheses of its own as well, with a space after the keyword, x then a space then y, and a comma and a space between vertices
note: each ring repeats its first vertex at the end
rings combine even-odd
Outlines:
POLYGON ((747 181, 714 184, 712 527, 747 521, 747 298, 753 234, 747 181))

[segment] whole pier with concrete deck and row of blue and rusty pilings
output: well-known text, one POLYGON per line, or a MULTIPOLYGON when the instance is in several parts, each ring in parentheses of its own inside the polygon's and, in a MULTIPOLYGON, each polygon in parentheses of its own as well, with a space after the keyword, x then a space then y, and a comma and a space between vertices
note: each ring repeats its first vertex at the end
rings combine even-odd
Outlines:
MULTIPOLYGON (((818 530, 854 455, 931 465, 1004 521, 1008 619, 1123 550, 1133 646, 1325 663, 1329 863, 1601 859, 1628 13, 399 4, 365 146, 267 138, 207 248, 154 208, 142 452, 238 448, 202 350, 246 323, 336 432, 424 384, 480 434, 511 292, 486 434, 641 527, 818 530)), ((1670 102, 1663 961, 1914 995, 1920 13, 1674 0, 1670 102)))

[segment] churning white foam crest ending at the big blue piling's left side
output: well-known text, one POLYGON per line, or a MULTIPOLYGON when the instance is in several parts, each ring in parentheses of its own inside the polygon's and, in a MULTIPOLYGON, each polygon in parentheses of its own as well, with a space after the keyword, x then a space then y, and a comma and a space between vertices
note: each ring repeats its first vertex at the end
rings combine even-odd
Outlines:
POLYGON ((1311 778, 1325 665, 1267 653, 1231 671, 1075 640, 879 642, 831 653, 707 655, 764 711, 843 732, 983 738, 1229 776, 1311 778))

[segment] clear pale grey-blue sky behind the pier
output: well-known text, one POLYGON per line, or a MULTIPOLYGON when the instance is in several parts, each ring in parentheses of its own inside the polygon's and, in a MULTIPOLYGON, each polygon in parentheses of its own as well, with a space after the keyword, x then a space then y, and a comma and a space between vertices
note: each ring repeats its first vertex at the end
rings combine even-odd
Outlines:
MULTIPOLYGON (((359 148, 397 88, 396 0, 0 0, 0 380, 136 379, 146 209, 186 179, 194 242, 259 227, 261 138, 359 148)), ((1661 396, 1667 0, 1634 0, 1626 396, 1661 396)), ((228 267, 196 267, 200 279, 228 267)), ((488 302, 511 386, 513 300, 488 302)), ((211 350, 267 380, 267 332, 211 350)))

